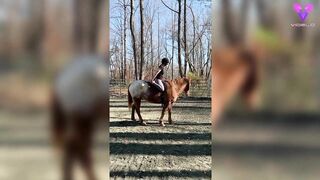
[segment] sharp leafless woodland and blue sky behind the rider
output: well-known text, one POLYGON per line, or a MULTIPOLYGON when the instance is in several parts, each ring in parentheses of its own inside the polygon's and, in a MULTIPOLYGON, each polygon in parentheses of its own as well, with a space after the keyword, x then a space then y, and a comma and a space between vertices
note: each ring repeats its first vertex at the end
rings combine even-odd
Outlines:
POLYGON ((150 79, 164 57, 171 60, 168 78, 209 79, 211 4, 207 0, 111 1, 111 79, 150 79))

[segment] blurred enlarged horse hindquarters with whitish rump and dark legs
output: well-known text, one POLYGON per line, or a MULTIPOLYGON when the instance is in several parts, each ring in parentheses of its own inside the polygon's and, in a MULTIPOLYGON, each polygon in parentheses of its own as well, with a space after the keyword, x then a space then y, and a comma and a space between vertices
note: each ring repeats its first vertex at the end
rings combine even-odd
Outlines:
POLYGON ((102 57, 76 58, 55 79, 51 90, 51 132, 62 152, 62 179, 73 179, 80 163, 94 180, 92 141, 100 118, 108 116, 108 68, 102 57))

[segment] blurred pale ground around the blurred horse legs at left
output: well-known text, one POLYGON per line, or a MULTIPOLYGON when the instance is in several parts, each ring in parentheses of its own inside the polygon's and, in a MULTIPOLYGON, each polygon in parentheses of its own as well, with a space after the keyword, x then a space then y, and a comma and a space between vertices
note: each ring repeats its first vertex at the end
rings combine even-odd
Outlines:
MULTIPOLYGON (((1 110, 0 113, 0 179, 62 179, 62 157, 51 143, 47 112, 1 110)), ((108 175, 105 134, 105 128, 100 128, 94 143, 97 179, 106 179, 108 175)), ((75 179, 85 179, 79 167, 76 166, 75 179)))

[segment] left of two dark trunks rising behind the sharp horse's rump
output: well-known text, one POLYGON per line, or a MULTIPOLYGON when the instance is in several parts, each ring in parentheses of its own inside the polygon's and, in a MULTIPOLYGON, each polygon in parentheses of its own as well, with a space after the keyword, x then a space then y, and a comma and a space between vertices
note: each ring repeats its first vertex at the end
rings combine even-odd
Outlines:
POLYGON ((138 80, 138 67, 137 67, 137 48, 136 48, 136 36, 134 29, 134 0, 130 0, 130 32, 132 38, 132 49, 133 49, 133 59, 134 59, 134 75, 135 79, 138 80))

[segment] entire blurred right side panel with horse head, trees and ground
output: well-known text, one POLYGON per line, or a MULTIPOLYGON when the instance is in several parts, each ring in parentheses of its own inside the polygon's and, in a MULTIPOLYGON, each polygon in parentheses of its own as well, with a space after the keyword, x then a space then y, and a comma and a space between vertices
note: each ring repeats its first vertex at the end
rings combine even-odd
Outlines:
POLYGON ((319 179, 320 10, 313 3, 305 22, 292 1, 214 4, 216 179, 319 179), (291 25, 303 23, 315 27, 291 25))

